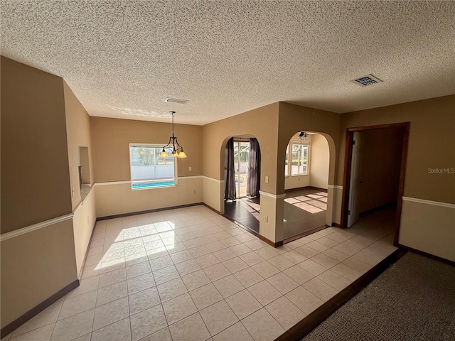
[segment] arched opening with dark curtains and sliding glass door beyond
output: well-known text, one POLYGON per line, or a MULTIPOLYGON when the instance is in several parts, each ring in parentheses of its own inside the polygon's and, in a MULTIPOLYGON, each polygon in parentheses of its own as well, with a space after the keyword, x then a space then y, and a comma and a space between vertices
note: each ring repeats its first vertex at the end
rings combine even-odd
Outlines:
POLYGON ((259 234, 261 152, 254 136, 232 136, 224 149, 224 216, 259 234))

